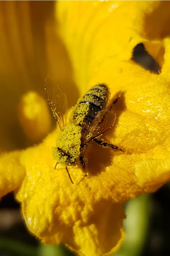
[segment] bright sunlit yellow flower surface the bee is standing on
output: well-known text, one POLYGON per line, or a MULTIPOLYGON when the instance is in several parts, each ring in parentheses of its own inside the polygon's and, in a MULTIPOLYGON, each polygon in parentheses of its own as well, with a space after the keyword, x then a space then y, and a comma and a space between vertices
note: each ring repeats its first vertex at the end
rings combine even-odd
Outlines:
POLYGON ((166 1, 58 3, 60 35, 80 96, 103 82, 111 97, 125 92, 105 139, 126 152, 91 143, 88 177, 80 164, 69 167, 74 185, 65 168, 54 169, 51 148, 58 128, 38 146, 1 157, 1 196, 15 190, 28 228, 44 243, 65 243, 88 256, 114 253, 125 236, 123 203, 170 178, 168 10, 166 1), (131 59, 139 43, 162 67, 160 74, 131 59))

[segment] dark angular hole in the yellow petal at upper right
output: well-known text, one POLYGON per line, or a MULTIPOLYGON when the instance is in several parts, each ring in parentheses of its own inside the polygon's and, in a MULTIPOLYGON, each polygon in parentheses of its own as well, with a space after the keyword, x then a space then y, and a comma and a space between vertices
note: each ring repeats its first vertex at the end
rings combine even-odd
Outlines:
POLYGON ((137 44, 133 49, 132 60, 149 70, 151 73, 160 74, 161 67, 146 51, 143 43, 137 44))

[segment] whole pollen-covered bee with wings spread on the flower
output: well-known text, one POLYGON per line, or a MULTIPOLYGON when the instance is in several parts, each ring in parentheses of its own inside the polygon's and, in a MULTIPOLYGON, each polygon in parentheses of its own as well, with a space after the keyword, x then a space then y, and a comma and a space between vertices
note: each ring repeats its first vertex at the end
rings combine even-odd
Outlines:
POLYGON ((99 136, 114 125, 116 113, 112 113, 112 107, 122 93, 109 104, 110 92, 108 86, 106 84, 93 86, 77 101, 67 122, 69 110, 67 97, 49 76, 46 77, 45 90, 52 112, 61 130, 56 139, 56 146, 52 147, 53 159, 57 161, 56 166, 57 164, 65 166, 72 183, 73 180, 67 167, 76 164, 79 158, 82 170, 85 172, 86 165, 83 157, 86 146, 90 141, 93 140, 103 147, 124 152, 113 144, 98 140, 99 136))

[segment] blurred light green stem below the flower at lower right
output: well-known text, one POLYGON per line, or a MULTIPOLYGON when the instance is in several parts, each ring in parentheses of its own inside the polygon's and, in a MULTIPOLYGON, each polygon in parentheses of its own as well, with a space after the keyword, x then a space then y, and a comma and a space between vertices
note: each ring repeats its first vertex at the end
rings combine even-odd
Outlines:
POLYGON ((145 245, 150 219, 150 195, 144 194, 130 199, 126 206, 127 218, 124 220, 126 237, 122 247, 114 256, 139 255, 145 245))

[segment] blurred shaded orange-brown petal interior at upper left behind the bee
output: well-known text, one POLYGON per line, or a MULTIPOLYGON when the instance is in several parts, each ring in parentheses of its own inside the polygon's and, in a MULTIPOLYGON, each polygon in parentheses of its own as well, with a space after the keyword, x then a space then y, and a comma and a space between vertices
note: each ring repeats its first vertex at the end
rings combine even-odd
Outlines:
MULTIPOLYGON (((55 74, 55 80, 64 86, 65 92, 71 86, 77 91, 70 82, 71 65, 66 50, 48 22, 53 17, 53 6, 51 1, 0 3, 0 119, 3 121, 0 145, 3 150, 26 147, 18 120, 18 102, 29 90, 46 98, 47 75, 55 74)), ((78 92, 75 94, 75 99, 68 97, 70 106, 76 103, 78 92)))

